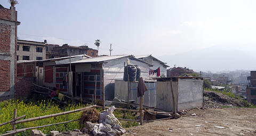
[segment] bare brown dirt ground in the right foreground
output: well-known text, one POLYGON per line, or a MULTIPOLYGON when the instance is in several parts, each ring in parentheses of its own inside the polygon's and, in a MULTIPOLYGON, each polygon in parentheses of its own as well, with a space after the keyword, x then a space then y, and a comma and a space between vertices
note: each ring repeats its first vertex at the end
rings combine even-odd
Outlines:
POLYGON ((192 109, 178 119, 146 123, 126 131, 125 135, 256 135, 256 108, 192 109), (193 113, 197 116, 191 117, 193 113))

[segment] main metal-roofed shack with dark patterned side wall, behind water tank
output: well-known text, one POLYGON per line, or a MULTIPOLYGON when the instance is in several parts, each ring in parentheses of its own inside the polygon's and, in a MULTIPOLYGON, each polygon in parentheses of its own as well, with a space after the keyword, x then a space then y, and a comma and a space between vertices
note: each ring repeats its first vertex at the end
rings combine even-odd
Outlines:
MULTIPOLYGON (((115 80, 123 79, 124 65, 136 65, 141 68, 141 76, 148 78, 149 63, 134 58, 132 55, 111 55, 93 57, 71 62, 73 67, 73 94, 84 99, 92 99, 95 84, 97 84, 96 98, 102 100, 103 85, 105 87, 105 100, 113 100, 115 80), (74 76, 75 75, 75 76, 74 76), (95 76, 97 75, 97 82, 95 76), (75 93, 74 93, 75 90, 75 93)), ((56 67, 68 67, 69 62, 60 63, 56 67)))

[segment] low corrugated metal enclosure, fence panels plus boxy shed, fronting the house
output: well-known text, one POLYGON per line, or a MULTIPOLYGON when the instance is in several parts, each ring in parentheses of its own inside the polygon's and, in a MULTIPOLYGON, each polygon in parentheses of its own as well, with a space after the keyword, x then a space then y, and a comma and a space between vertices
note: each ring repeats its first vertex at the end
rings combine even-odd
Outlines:
MULTIPOLYGON (((139 104, 137 84, 137 82, 131 82, 130 100, 135 100, 139 104)), ((178 111, 203 106, 202 77, 157 78, 157 82, 145 81, 145 84, 149 90, 144 95, 143 105, 145 106, 156 107, 165 111, 174 111, 174 109, 178 111)), ((125 81, 115 82, 115 95, 117 94, 120 99, 126 101, 128 97, 127 85, 125 81)))

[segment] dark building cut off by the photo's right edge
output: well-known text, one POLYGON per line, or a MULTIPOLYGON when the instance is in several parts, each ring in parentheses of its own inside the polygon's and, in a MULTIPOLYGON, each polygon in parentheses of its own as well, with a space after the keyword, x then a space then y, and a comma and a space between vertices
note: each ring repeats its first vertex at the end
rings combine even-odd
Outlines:
POLYGON ((251 71, 251 76, 247 77, 246 98, 248 102, 256 105, 256 71, 251 71))

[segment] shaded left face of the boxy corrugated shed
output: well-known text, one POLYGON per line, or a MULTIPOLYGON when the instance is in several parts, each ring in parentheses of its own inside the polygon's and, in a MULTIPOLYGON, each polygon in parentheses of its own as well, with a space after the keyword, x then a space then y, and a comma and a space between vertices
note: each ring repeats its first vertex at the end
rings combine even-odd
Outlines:
POLYGON ((171 93, 171 84, 173 87, 175 108, 177 109, 177 98, 178 98, 178 82, 157 81, 157 105, 156 108, 163 109, 165 111, 174 111, 173 99, 171 93))

